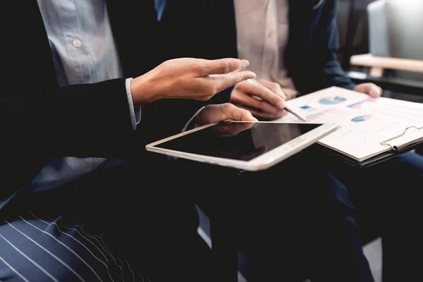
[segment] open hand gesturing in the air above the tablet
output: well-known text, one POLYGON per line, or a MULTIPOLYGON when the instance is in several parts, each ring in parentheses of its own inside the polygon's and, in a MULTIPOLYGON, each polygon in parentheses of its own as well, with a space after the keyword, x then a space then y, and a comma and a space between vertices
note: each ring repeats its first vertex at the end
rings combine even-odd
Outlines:
POLYGON ((244 71, 248 64, 248 61, 239 59, 165 61, 132 80, 130 90, 134 106, 167 98, 207 101, 238 82, 255 78, 255 73, 244 71))

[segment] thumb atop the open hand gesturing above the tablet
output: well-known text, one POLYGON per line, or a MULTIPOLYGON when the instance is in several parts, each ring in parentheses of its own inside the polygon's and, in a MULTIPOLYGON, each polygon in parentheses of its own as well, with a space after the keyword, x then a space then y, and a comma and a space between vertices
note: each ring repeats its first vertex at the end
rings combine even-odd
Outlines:
POLYGON ((219 75, 224 73, 232 73, 233 71, 242 71, 250 64, 247 60, 240 59, 219 59, 204 60, 204 67, 200 76, 219 75))

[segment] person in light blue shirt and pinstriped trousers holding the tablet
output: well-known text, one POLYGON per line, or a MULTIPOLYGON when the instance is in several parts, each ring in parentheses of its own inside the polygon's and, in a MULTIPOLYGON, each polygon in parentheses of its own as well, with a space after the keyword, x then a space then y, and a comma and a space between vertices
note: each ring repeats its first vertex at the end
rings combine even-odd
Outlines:
MULTIPOLYGON (((205 101, 255 78, 248 62, 162 62, 153 1, 11 1, 0 23, 0 280, 202 280, 195 207, 145 153, 147 105, 205 101)), ((226 119, 257 121, 233 104, 196 121, 226 119)))

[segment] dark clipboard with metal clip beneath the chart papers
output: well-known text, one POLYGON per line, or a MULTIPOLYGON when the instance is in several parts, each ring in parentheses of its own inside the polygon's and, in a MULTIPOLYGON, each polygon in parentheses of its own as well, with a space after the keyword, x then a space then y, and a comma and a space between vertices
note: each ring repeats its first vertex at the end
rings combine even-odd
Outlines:
POLYGON ((415 140, 411 140, 410 142, 401 143, 399 145, 396 145, 393 142, 394 140, 398 140, 400 137, 403 137, 412 128, 415 128, 416 130, 423 130, 423 127, 417 127, 415 125, 411 125, 405 128, 403 133, 393 136, 389 138, 388 140, 381 141, 381 145, 386 145, 390 147, 389 151, 381 152, 380 154, 377 154, 374 157, 370 157, 369 159, 365 159, 364 161, 357 161, 356 159, 353 159, 352 157, 348 157, 347 155, 337 152, 333 149, 330 149, 329 147, 325 147, 324 145, 318 145, 318 147, 321 152, 329 154, 338 160, 341 160, 347 164, 350 164, 351 166, 356 166, 358 168, 367 168, 369 166, 380 164, 383 161, 388 161, 389 159, 393 159, 400 154, 404 154, 406 152, 412 151, 413 149, 416 149, 417 147, 419 147, 419 145, 423 145, 423 136, 415 140))

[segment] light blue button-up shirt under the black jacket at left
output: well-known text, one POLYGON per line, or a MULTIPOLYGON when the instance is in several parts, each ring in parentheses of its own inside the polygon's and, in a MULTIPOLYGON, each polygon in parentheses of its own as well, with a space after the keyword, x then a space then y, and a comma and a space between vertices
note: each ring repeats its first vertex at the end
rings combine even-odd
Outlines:
MULTIPOLYGON (((60 87, 123 77, 105 0, 37 1, 60 87)), ((133 108, 130 78, 126 80, 126 92, 135 129, 140 122, 140 109, 133 108)), ((56 188, 94 170, 122 162, 104 158, 54 158, 42 168, 26 191, 32 193, 56 188)))

